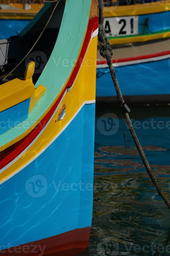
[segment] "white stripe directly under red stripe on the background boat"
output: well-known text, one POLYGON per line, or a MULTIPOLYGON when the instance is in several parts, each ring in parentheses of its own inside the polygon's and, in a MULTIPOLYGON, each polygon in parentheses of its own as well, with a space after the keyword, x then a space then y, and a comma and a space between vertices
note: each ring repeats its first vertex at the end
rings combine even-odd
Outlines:
MULTIPOLYGON (((162 55, 162 56, 147 58, 147 59, 141 59, 141 60, 117 62, 117 63, 113 63, 113 66, 120 67, 120 66, 134 65, 134 64, 141 64, 141 63, 146 63, 146 62, 151 62, 151 61, 165 60, 165 59, 169 59, 169 58, 170 58, 170 54, 167 54, 167 55, 162 55)), ((97 64, 97 68, 106 68, 106 67, 108 67, 107 64, 97 64)))

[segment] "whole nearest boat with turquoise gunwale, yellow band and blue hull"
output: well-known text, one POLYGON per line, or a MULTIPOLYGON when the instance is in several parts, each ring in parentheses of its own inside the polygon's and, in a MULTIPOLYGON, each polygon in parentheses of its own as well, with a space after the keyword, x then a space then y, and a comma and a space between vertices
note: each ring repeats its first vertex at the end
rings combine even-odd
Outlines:
POLYGON ((96 65, 84 63, 96 61, 97 34, 96 0, 60 0, 0 41, 3 255, 88 247, 96 65))

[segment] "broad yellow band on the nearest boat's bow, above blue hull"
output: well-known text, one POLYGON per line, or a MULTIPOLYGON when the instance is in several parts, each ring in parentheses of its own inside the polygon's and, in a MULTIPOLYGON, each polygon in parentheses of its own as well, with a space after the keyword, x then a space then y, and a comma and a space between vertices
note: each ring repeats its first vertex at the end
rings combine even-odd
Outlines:
POLYGON ((51 119, 50 123, 37 141, 35 141, 35 143, 16 162, 0 174, 0 182, 15 173, 19 168, 22 168, 22 166, 27 164, 32 158, 41 152, 41 150, 46 147, 53 138, 55 138, 55 136, 74 116, 84 101, 95 100, 96 48, 97 37, 91 40, 76 82, 71 91, 67 92, 64 96, 56 115, 51 119), (55 122, 60 107, 63 104, 66 104, 66 115, 61 121, 55 122))

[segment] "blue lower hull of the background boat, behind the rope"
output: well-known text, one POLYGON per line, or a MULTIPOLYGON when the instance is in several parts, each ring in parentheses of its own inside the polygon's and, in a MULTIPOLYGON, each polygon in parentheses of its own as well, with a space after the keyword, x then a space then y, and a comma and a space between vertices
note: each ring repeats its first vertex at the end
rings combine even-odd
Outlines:
MULTIPOLYGON (((124 96, 170 94, 169 59, 115 68, 124 96)), ((108 68, 97 69, 96 97, 116 96, 108 68)))

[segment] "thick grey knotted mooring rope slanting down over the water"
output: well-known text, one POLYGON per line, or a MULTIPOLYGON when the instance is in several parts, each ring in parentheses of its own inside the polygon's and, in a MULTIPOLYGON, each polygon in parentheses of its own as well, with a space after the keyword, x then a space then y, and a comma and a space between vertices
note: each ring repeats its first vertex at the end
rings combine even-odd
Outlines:
POLYGON ((123 96, 121 94, 120 91, 120 87, 119 84, 117 82, 117 78, 116 78, 116 74, 115 74, 115 70, 112 64, 112 55, 113 55, 113 51, 112 48, 110 46, 110 42, 107 38, 106 32, 105 32, 105 28, 104 28, 104 15, 103 15, 103 0, 98 0, 99 1, 99 44, 101 45, 101 49, 100 49, 100 54, 103 58, 105 58, 107 60, 107 64, 110 70, 110 74, 112 76, 112 80, 116 89, 116 93, 117 93, 117 97, 119 99, 121 108, 122 108, 122 116, 123 118, 126 120, 126 123, 128 125, 128 128, 130 130, 130 133, 133 137, 134 143, 136 145, 136 148, 138 149, 138 152, 141 156, 141 159, 143 161, 143 164, 145 165, 145 168, 149 174, 149 177, 152 180, 153 185, 155 186, 155 188, 158 190, 158 194, 159 196, 162 197, 162 199, 164 200, 164 202, 166 203, 166 205, 168 206, 169 210, 170 210, 170 202, 167 198, 167 196, 165 195, 165 193, 162 191, 160 185, 158 184, 155 174, 152 172, 151 167, 148 163, 148 160, 146 159, 145 153, 143 152, 143 149, 140 145, 139 139, 135 133, 135 130, 133 128, 132 122, 129 118, 129 114, 128 112, 125 110, 124 106, 125 106, 125 102, 123 100, 123 96))

